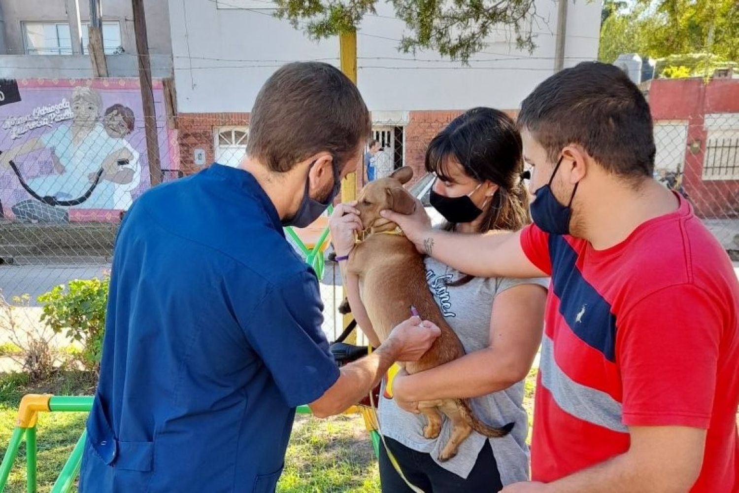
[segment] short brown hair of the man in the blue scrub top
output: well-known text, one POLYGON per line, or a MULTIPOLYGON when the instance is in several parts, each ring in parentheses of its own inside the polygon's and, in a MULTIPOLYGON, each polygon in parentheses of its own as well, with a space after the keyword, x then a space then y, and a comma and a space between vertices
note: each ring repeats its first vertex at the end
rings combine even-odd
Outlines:
POLYGON ((268 169, 285 172, 328 151, 341 169, 370 130, 367 106, 346 75, 329 64, 295 62, 280 67, 259 90, 247 152, 268 169))

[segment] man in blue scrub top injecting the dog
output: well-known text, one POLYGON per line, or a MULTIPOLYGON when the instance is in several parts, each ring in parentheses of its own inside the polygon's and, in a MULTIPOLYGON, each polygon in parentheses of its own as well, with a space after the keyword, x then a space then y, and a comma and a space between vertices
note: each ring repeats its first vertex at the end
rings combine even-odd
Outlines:
POLYGON ((315 273, 282 231, 324 211, 369 131, 338 69, 288 64, 256 98, 239 169, 214 164, 132 205, 81 492, 273 492, 297 405, 342 412, 430 347, 438 328, 412 318, 338 370, 315 273))

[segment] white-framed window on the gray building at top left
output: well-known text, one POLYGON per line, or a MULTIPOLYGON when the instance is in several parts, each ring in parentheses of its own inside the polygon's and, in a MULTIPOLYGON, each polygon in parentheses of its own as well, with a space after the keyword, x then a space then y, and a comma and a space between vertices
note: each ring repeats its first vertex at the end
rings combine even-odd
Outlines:
MULTIPOLYGON (((88 52, 89 23, 81 26, 82 53, 88 52)), ((24 22, 27 55, 72 55, 72 35, 67 22, 24 22)), ((103 22, 103 48, 106 55, 123 52, 118 21, 103 22)))

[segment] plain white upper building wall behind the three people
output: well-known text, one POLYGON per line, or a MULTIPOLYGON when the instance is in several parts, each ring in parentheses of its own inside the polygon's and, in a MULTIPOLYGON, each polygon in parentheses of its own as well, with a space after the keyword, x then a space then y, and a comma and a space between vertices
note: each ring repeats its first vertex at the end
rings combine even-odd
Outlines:
MULTIPOLYGON (((596 58, 600 2, 569 0, 565 66, 596 58)), ((234 3, 234 2, 232 2, 234 3)), ((373 111, 514 109, 553 73, 557 4, 537 0, 538 47, 515 50, 500 30, 470 67, 435 52, 398 52, 403 23, 389 4, 367 16, 357 37, 358 86, 373 111)), ((259 87, 281 64, 322 60, 338 66, 338 38, 310 41, 271 10, 217 9, 215 0, 169 0, 180 112, 250 112, 259 87)))

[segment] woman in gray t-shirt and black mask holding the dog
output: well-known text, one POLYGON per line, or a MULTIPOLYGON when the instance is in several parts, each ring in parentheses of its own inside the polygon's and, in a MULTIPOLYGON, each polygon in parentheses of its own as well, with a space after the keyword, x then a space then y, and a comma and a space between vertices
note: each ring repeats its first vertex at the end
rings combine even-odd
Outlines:
MULTIPOLYGON (((505 113, 474 108, 455 118, 429 144, 425 166, 437 176, 431 203, 446 219, 442 228, 447 231, 517 231, 531 221, 521 137, 505 113)), ((353 204, 336 208, 330 228, 336 253, 348 254, 354 231, 361 230, 353 204)), ((546 281, 468 276, 431 257, 425 265, 429 289, 466 356, 429 372, 400 373, 392 398, 387 392, 381 396, 379 420, 387 447, 381 447, 382 490, 413 492, 407 480, 426 493, 490 492, 528 480, 523 378, 542 336, 546 281), (514 423, 514 429, 491 439, 472 432, 456 456, 441 462, 437 457, 449 438, 449 423, 438 438, 423 438, 426 421, 416 409, 418 401, 440 398, 471 398, 475 415, 486 424, 514 423)), ((378 338, 355 294, 358 279, 343 265, 342 273, 354 316, 376 346, 378 338)))

